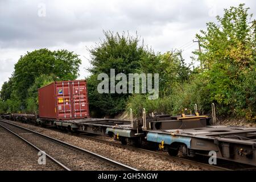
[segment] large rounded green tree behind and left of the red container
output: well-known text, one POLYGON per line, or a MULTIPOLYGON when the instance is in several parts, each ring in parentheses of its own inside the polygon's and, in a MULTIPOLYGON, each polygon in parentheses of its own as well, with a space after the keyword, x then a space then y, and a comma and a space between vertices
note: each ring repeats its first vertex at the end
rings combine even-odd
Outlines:
POLYGON ((3 111, 34 112, 38 107, 38 86, 49 80, 75 80, 80 64, 79 55, 67 50, 44 48, 20 56, 12 77, 3 84, 0 92, 3 111))

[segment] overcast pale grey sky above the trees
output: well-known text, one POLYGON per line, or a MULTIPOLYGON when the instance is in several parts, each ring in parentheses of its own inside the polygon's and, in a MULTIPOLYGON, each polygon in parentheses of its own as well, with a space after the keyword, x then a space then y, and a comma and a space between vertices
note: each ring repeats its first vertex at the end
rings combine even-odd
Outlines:
MULTIPOLYGON (((20 55, 39 48, 68 49, 80 55, 80 77, 88 76, 86 46, 104 39, 103 30, 138 32, 155 51, 184 50, 187 63, 195 34, 215 21, 224 8, 245 3, 256 13, 255 0, 240 1, 11 1, 0 0, 0 88, 20 55)), ((255 15, 254 15, 255 18, 255 15)))

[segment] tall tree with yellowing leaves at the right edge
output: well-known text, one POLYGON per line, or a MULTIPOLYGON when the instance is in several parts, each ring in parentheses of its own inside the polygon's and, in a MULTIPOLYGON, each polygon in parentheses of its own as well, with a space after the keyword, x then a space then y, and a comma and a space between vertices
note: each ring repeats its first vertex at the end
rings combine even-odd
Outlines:
POLYGON ((207 23, 207 31, 196 35, 203 51, 194 53, 203 65, 199 76, 208 80, 209 104, 215 102, 222 115, 247 114, 255 119, 256 35, 248 10, 244 4, 230 7, 223 17, 216 17, 218 24, 207 23))

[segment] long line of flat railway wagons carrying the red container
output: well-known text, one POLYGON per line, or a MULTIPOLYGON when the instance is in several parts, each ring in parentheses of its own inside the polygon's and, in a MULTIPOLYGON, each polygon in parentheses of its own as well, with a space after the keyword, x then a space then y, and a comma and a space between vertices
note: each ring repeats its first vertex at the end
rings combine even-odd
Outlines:
MULTIPOLYGON (((19 117, 17 114, 13 117, 7 115, 7 118, 24 122, 23 119, 19 120, 23 118, 21 115, 24 114, 19 114, 19 117)), ((27 120, 32 121, 38 123, 40 118, 27 120)), ((209 156, 209 152, 214 151, 218 159, 256 166, 256 127, 210 125, 210 118, 198 114, 156 115, 133 122, 108 118, 52 122, 54 124, 50 126, 59 129, 114 137, 123 144, 131 142, 139 145, 142 141, 148 145, 158 144, 170 155, 209 156)))

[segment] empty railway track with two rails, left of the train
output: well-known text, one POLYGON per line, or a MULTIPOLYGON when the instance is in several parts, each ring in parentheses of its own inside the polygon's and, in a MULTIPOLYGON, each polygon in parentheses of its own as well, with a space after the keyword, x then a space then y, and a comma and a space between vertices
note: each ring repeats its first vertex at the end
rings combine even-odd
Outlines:
POLYGON ((38 151, 44 151, 46 156, 61 168, 72 170, 129 170, 137 171, 133 167, 115 162, 112 159, 73 146, 61 140, 48 137, 36 131, 26 129, 0 119, 0 126, 19 137, 38 151))

